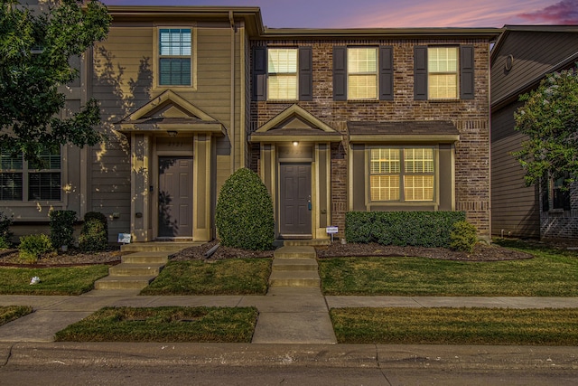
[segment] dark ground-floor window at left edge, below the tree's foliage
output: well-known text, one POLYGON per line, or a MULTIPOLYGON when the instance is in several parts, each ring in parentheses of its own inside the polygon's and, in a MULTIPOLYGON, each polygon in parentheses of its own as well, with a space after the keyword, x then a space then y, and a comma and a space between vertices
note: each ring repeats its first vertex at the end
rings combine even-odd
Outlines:
POLYGON ((61 201, 60 146, 40 155, 41 163, 0 150, 1 201, 61 201))

